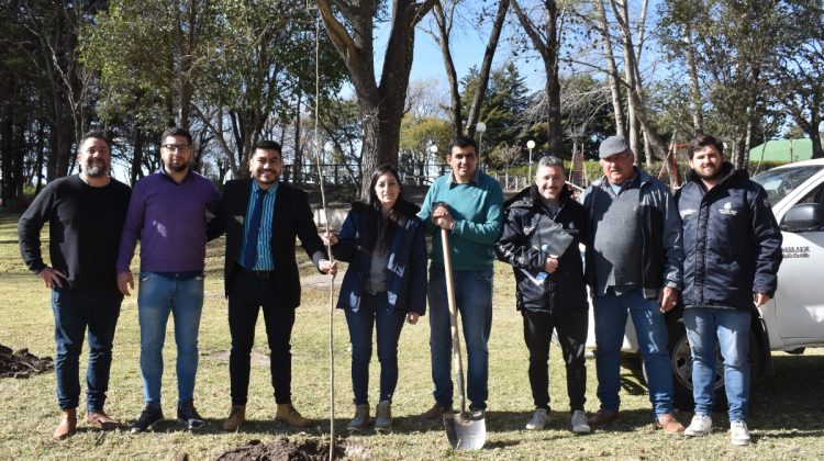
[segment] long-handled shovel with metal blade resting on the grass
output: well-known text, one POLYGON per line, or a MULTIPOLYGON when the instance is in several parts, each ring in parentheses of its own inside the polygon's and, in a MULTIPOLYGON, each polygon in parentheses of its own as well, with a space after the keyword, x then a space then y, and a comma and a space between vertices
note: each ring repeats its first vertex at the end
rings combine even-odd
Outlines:
POLYGON ((480 450, 487 441, 487 421, 481 416, 472 418, 466 411, 466 395, 464 393, 464 361, 460 357, 460 339, 458 337, 458 308, 455 305, 455 282, 452 278, 452 255, 449 251, 449 233, 441 229, 441 243, 444 247, 444 274, 446 276, 446 294, 449 301, 449 324, 452 325, 452 356, 455 361, 455 374, 460 400, 460 413, 444 414, 446 438, 452 448, 457 450, 480 450))

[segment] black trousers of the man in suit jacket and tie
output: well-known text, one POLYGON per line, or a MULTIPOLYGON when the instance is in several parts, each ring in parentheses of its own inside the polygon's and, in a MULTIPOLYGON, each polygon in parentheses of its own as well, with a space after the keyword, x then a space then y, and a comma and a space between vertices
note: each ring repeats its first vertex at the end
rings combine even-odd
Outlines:
POLYGON ((275 402, 291 403, 292 353, 289 344, 294 325, 294 307, 281 303, 277 281, 236 271, 229 289, 229 330, 232 350, 229 355, 232 405, 246 405, 249 387, 252 346, 255 324, 263 308, 269 342, 269 367, 275 402))

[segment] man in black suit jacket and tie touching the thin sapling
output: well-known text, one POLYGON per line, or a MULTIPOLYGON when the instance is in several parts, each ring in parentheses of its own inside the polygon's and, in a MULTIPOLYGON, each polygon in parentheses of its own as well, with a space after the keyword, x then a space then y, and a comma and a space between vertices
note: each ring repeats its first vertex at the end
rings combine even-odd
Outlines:
POLYGON ((249 362, 260 308, 269 342, 275 419, 309 427, 291 403, 291 345, 294 308, 300 305, 300 276, 294 237, 322 273, 335 276, 312 218, 305 192, 278 182, 282 171, 280 145, 263 140, 249 157, 252 178, 226 182, 220 209, 226 233, 224 282, 229 299, 232 350, 229 372, 232 411, 223 423, 236 430, 246 417, 249 362))

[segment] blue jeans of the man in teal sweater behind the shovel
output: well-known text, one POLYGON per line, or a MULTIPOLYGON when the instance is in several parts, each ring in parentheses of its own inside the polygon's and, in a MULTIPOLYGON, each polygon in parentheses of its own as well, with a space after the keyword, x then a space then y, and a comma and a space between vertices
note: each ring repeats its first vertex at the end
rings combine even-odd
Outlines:
MULTIPOLYGON (((467 390, 469 407, 486 409, 489 397, 489 334, 492 330, 492 269, 453 271, 455 302, 460 313, 464 346, 467 351, 467 390)), ((444 267, 430 266, 430 353, 435 402, 450 408, 452 331, 446 296, 444 267)))

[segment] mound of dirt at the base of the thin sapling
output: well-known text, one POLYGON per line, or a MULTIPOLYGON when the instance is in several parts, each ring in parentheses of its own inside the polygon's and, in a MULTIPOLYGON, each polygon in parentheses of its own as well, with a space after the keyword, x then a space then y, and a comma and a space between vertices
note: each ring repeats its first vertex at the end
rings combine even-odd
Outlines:
MULTIPOLYGON (((360 446, 335 443, 334 459, 365 459, 366 450, 360 446)), ((246 447, 229 450, 218 457, 219 461, 325 461, 329 459, 329 443, 316 439, 290 442, 289 439, 276 439, 271 443, 252 440, 246 447)))

